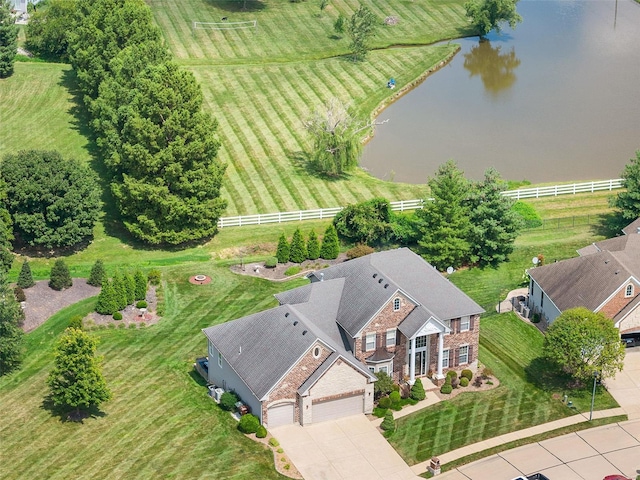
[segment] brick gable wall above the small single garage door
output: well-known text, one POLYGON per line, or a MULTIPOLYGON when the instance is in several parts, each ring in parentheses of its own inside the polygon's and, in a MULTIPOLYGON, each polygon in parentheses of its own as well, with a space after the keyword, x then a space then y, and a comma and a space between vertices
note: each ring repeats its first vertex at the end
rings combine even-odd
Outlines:
MULTIPOLYGON (((267 409, 270 405, 280 400, 290 400, 295 402, 295 420, 299 421, 300 409, 298 404, 298 389, 307 381, 316 369, 331 355, 331 351, 322 343, 316 342, 313 347, 298 361, 298 363, 289 371, 289 373, 280 380, 273 390, 269 393, 266 401, 262 402, 263 423, 269 423, 267 418, 267 409), (316 346, 321 348, 318 358, 313 358, 313 351, 316 346)), ((268 368, 268 366, 265 366, 268 368)))

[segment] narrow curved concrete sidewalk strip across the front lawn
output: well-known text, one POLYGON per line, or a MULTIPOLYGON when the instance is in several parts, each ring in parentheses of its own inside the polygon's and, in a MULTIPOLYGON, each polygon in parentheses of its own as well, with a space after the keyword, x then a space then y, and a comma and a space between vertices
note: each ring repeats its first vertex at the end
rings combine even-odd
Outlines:
MULTIPOLYGON (((618 415, 625 415, 626 412, 622 408, 612 408, 609 410, 599 410, 593 412, 593 418, 607 418, 607 417, 615 417, 618 415)), ((482 442, 474 443, 472 445, 467 445, 466 447, 458 448, 457 450, 452 450, 445 454, 439 455, 440 464, 444 465, 453 460, 457 460, 458 458, 466 457, 467 455, 471 455, 473 453, 478 453, 488 448, 493 448, 498 445, 503 445, 505 443, 513 442, 514 440, 520 440, 528 437, 532 437, 534 435, 538 435, 540 433, 549 432, 551 430, 556 430, 558 428, 567 427, 569 425, 576 425, 582 422, 588 422, 589 416, 588 414, 580 413, 577 415, 572 415, 571 417, 562 418, 560 420, 556 420, 549 423, 543 423, 541 425, 536 425, 535 427, 525 428, 523 430, 517 430, 515 432, 506 433, 504 435, 500 435, 499 437, 489 438, 487 440, 483 440, 482 442)), ((424 473, 427 470, 429 465, 429 460, 418 463, 411 467, 411 470, 416 475, 424 473)))

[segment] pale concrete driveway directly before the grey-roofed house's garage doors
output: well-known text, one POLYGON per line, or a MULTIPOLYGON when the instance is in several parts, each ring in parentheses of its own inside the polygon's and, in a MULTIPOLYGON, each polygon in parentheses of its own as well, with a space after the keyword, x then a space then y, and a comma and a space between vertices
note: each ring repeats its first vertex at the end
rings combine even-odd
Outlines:
POLYGON ((364 415, 274 428, 305 480, 418 480, 364 415))

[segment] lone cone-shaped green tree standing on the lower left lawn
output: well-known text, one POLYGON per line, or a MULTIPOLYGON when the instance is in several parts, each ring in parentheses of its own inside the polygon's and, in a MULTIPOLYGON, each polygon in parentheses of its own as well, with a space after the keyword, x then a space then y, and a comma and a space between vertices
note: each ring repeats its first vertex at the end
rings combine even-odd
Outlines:
POLYGON ((67 328, 56 344, 54 367, 47 383, 56 406, 80 409, 97 407, 111 398, 102 376, 98 340, 77 328, 67 328))

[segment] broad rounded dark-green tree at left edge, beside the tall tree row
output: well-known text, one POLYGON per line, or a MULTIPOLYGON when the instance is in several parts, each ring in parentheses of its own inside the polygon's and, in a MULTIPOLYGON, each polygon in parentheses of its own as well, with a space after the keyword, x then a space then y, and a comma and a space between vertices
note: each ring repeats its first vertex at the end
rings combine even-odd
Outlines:
POLYGON ((22 242, 69 247, 93 235, 100 189, 96 174, 86 165, 55 151, 24 150, 4 157, 0 177, 22 242))

